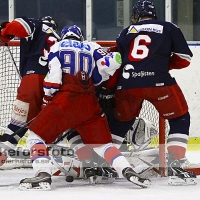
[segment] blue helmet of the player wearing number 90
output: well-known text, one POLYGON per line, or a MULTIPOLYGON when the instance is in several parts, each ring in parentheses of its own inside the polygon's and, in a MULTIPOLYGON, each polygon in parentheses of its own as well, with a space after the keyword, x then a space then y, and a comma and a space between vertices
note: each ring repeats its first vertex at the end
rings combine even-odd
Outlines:
POLYGON ((73 26, 65 26, 61 31, 61 39, 75 39, 79 41, 83 41, 83 32, 80 27, 73 26))

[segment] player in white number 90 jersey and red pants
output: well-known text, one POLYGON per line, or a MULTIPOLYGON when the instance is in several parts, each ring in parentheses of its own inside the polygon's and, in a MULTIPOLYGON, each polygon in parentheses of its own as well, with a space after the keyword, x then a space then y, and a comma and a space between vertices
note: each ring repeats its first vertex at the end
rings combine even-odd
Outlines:
MULTIPOLYGON (((150 181, 135 173, 112 145, 106 117, 95 95, 94 85, 107 80, 120 67, 120 54, 107 53, 97 43, 83 41, 76 25, 64 27, 61 37, 48 56, 50 70, 44 79, 44 100, 48 104, 28 130, 27 145, 36 176, 23 179, 20 189, 50 189, 52 163, 46 144, 69 128, 76 129, 83 142, 128 181, 148 187, 150 181)), ((90 177, 93 173, 85 169, 85 175, 90 177)))

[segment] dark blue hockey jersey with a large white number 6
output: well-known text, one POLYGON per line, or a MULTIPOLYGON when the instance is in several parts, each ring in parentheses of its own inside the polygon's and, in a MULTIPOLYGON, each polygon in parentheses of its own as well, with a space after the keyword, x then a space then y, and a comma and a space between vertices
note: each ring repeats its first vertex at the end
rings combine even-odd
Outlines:
POLYGON ((193 56, 180 29, 166 21, 140 21, 116 42, 122 56, 118 89, 172 85, 169 70, 187 67, 193 56))

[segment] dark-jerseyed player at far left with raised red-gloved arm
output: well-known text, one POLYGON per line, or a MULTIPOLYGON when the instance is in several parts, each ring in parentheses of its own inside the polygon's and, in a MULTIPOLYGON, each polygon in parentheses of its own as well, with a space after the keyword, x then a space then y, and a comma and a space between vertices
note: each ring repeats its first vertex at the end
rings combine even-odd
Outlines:
POLYGON ((22 79, 10 124, 3 135, 7 141, 0 143, 0 166, 7 159, 6 152, 15 148, 27 129, 23 129, 15 137, 9 135, 32 120, 41 110, 44 96, 43 80, 48 72, 48 52, 50 47, 60 40, 56 31, 57 23, 51 16, 40 19, 20 17, 1 24, 2 42, 7 43, 14 36, 20 38, 19 69, 22 79))

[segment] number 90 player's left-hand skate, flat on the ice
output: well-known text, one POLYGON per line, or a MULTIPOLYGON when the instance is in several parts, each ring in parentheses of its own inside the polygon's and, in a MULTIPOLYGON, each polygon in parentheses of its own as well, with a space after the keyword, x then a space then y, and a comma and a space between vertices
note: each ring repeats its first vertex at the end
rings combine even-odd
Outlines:
POLYGON ((25 178, 20 181, 20 190, 51 190, 51 175, 40 172, 36 177, 25 178))

